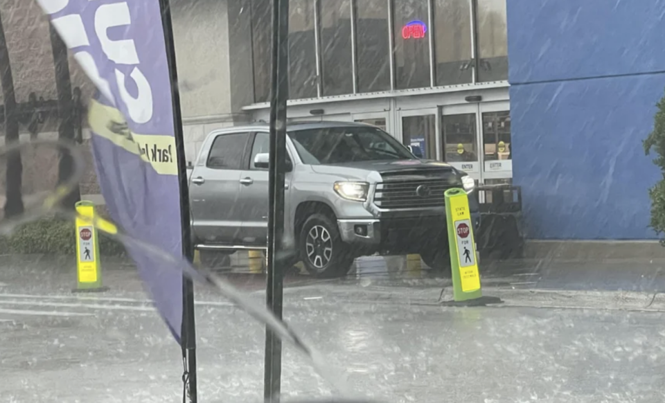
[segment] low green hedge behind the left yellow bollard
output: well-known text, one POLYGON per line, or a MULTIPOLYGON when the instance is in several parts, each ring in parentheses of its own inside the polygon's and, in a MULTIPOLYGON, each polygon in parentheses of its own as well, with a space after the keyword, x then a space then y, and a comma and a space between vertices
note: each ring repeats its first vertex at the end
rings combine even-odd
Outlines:
MULTIPOLYGON (((99 234, 102 256, 123 256, 125 248, 120 242, 99 234)), ((0 237, 0 254, 76 254, 74 223, 48 218, 25 224, 8 237, 0 237)))

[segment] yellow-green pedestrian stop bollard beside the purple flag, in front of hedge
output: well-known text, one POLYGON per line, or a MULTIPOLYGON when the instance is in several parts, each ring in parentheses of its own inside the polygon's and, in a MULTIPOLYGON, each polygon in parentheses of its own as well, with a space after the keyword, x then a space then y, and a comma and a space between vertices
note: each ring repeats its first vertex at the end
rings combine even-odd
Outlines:
POLYGON ((95 205, 93 202, 76 203, 76 288, 73 292, 103 292, 109 287, 102 285, 99 240, 93 222, 95 205))

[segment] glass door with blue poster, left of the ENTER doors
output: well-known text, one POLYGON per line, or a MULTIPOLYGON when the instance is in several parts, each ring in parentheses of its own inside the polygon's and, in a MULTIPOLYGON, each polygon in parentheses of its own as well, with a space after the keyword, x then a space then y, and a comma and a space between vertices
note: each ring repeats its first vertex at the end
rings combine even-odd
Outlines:
POLYGON ((411 152, 420 159, 441 159, 436 115, 436 109, 400 111, 402 144, 411 147, 411 152))

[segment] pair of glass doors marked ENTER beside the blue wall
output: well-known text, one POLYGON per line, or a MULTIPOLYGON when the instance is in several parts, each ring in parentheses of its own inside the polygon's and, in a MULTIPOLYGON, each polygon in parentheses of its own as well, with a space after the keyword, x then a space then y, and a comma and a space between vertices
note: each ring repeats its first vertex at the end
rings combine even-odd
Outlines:
POLYGON ((486 185, 512 183, 508 102, 441 108, 443 160, 486 185))

